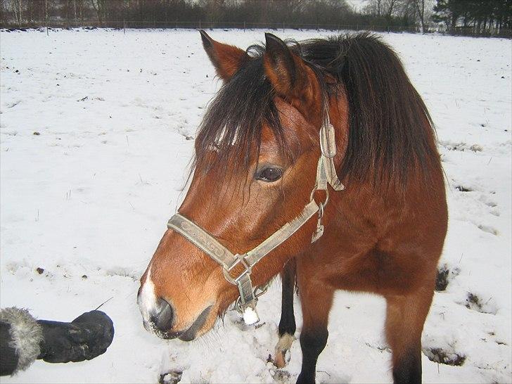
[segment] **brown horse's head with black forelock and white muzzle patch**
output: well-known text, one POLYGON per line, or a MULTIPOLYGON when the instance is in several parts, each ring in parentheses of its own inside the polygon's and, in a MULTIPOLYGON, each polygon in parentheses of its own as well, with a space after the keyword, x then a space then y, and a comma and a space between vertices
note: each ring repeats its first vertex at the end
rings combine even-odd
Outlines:
POLYGON ((319 131, 329 114, 342 132, 330 143, 338 153, 325 160, 332 169, 340 164, 347 140, 346 98, 329 98, 326 84, 335 79, 322 75, 293 46, 266 34, 264 48, 243 51, 204 31, 201 36, 224 84, 200 125, 191 184, 179 207, 181 222, 193 228, 179 233, 179 224, 169 225, 138 295, 146 328, 181 340, 210 330, 239 295, 243 301, 243 288, 233 281, 248 267, 250 301, 253 286, 267 283, 290 258, 312 246, 320 224, 311 217, 319 207, 322 225, 331 217, 321 203, 328 191, 315 192, 322 157, 319 131), (297 218, 300 227, 254 267, 234 259, 236 265, 226 271, 216 260, 212 248, 244 257, 285 224, 297 224, 297 218), (198 246, 193 238, 201 231, 206 234, 198 246))

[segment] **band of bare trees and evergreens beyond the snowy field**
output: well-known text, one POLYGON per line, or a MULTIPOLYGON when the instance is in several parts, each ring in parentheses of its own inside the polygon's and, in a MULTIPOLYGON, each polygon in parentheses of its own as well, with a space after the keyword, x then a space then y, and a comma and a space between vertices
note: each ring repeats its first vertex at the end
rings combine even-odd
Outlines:
MULTIPOLYGON (((512 0, 0 0, 1 27, 511 28, 512 0)), ((468 30, 468 28, 466 28, 468 30)), ((460 31, 459 31, 460 32, 460 31)))

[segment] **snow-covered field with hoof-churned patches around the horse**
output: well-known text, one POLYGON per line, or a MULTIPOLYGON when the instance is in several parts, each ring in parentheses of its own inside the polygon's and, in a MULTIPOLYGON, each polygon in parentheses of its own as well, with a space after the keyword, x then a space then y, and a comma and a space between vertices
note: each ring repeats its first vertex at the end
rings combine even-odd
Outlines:
MULTIPOLYGON (((263 32, 210 34, 246 47, 263 32)), ((450 366, 423 355, 423 380, 510 383, 511 41, 383 38, 430 108, 448 181, 448 286, 435 293, 423 347, 466 359, 450 366)), ((138 278, 184 196, 193 136, 220 85, 199 33, 4 31, 0 44, 1 307, 70 321, 111 298, 101 309, 116 327, 101 357, 36 361, 2 383, 156 383, 171 370, 187 383, 294 382, 298 343, 285 369, 267 363, 279 283, 260 300, 263 326, 246 328, 229 312, 193 343, 146 332, 136 306, 138 278)), ((337 295, 317 381, 392 380, 384 311, 379 297, 337 295)), ((300 324, 298 314, 297 334, 300 324)))

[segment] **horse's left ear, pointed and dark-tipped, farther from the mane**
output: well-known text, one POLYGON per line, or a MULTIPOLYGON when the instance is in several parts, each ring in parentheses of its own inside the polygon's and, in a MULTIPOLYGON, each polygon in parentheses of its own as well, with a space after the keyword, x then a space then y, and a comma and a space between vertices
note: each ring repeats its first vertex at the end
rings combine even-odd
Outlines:
POLYGON ((248 54, 236 46, 215 41, 203 30, 199 32, 203 39, 203 47, 217 70, 217 75, 223 80, 229 80, 241 68, 245 60, 248 60, 248 54))

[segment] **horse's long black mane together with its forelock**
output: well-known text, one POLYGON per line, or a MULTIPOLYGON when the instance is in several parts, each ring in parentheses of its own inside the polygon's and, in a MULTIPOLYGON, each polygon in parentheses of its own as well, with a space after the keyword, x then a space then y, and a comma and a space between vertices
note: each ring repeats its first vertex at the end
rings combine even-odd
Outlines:
MULTIPOLYGON (((290 49, 316 73, 324 99, 343 90, 350 129, 341 179, 372 180, 405 186, 411 172, 428 177, 438 163, 430 115, 407 78, 395 52, 367 32, 329 39, 288 41, 290 49), (326 75, 338 84, 326 82, 326 75)), ((251 59, 220 89, 210 104, 196 139, 196 161, 211 146, 218 160, 247 166, 250 150, 259 150, 262 123, 283 143, 283 127, 274 90, 264 76, 264 46, 250 46, 251 59)))

